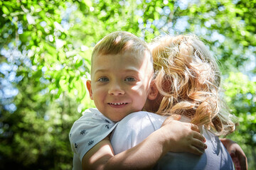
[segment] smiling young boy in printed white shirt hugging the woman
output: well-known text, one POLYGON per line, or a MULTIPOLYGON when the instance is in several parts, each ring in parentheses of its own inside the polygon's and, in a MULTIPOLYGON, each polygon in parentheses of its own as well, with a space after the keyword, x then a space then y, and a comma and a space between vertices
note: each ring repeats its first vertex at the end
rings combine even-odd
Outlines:
POLYGON ((171 121, 149 135, 149 140, 114 155, 110 133, 126 115, 142 111, 146 98, 154 98, 153 72, 151 53, 135 35, 114 32, 97 43, 92 80, 86 84, 97 109, 85 111, 70 130, 73 169, 149 169, 167 152, 203 153, 205 138, 198 127, 171 121))

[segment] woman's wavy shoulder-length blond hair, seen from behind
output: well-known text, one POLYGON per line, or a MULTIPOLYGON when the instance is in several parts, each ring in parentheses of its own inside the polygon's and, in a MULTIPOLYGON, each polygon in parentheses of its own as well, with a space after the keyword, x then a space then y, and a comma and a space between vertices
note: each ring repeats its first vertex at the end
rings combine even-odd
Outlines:
POLYGON ((215 135, 235 130, 220 98, 220 70, 206 45, 195 35, 166 35, 152 43, 156 86, 164 98, 160 115, 180 114, 215 135))

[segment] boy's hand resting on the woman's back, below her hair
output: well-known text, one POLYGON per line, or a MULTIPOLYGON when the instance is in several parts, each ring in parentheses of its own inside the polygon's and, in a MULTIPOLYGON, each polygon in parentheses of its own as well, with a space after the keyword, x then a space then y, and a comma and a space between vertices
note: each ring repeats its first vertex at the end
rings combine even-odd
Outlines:
POLYGON ((206 138, 200 134, 197 125, 182 123, 180 115, 169 116, 161 125, 165 146, 169 152, 190 152, 201 155, 207 148, 206 138))

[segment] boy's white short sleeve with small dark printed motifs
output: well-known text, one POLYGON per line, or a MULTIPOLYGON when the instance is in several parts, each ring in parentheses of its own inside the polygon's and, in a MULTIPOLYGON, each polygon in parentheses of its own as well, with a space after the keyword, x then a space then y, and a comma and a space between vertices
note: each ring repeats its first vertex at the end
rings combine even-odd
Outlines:
POLYGON ((82 157, 114 130, 117 123, 102 115, 96 108, 87 109, 73 124, 69 139, 72 151, 82 157))

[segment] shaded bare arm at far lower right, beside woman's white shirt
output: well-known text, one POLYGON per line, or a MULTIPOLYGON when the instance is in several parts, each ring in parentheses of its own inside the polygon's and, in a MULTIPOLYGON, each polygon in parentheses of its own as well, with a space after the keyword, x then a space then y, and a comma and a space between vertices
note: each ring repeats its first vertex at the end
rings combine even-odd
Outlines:
POLYGON ((223 145, 228 150, 228 153, 230 153, 230 156, 235 165, 235 169, 247 170, 247 157, 245 156, 245 153, 242 151, 242 148, 233 140, 224 138, 220 139, 220 141, 223 142, 223 145))

